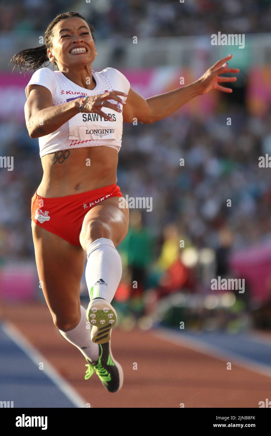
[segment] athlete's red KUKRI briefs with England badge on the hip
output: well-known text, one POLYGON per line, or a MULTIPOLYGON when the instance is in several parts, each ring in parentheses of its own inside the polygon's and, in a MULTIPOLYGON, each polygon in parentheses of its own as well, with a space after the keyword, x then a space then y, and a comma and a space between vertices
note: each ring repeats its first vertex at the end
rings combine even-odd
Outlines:
POLYGON ((122 197, 116 184, 66 197, 44 198, 36 191, 31 201, 31 219, 70 244, 80 245, 84 216, 96 204, 110 197, 122 197))

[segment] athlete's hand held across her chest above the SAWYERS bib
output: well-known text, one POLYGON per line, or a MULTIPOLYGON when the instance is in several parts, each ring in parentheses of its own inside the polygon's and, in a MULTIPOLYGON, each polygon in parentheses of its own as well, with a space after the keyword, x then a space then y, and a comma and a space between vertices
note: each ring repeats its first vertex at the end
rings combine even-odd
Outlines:
POLYGON ((104 94, 98 94, 88 97, 88 99, 84 100, 82 104, 81 112, 98 113, 99 115, 103 116, 105 119, 108 119, 109 121, 114 121, 113 118, 108 116, 107 113, 103 112, 101 109, 107 107, 117 112, 122 112, 122 109, 119 109, 117 107, 117 104, 114 104, 109 101, 109 100, 115 100, 116 102, 125 105, 126 103, 119 97, 119 95, 128 97, 129 94, 125 94, 124 92, 120 92, 120 91, 111 91, 111 92, 105 92, 104 94))

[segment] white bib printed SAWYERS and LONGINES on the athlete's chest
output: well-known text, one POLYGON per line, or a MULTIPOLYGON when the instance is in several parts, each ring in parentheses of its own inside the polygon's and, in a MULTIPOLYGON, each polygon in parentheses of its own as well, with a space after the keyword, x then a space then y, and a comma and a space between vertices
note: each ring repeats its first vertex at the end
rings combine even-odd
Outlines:
MULTIPOLYGON (((84 98, 84 95, 82 95, 84 98)), ((70 101, 72 99, 68 99, 70 101)), ((115 100, 108 100, 110 103, 118 105, 120 104, 115 100)), ((114 111, 110 108, 102 108, 102 112, 109 115, 114 121, 109 121, 103 116, 97 113, 84 113, 80 112, 73 118, 69 119, 69 139, 76 141, 87 141, 87 140, 120 140, 122 136, 122 113, 114 111)))

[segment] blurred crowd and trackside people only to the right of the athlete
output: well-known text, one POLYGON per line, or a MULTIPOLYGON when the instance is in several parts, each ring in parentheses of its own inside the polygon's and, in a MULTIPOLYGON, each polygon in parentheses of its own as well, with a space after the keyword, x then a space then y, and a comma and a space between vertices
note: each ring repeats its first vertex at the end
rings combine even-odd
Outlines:
MULTIPOLYGON (((147 126, 125 126, 118 183, 129 198, 153 199, 152 211, 131 211, 130 230, 119 247, 124 276, 118 295, 125 301, 130 294, 130 313, 144 314, 148 295, 151 313, 157 300, 175 298, 180 290, 206 296, 212 277, 236 277, 229 266, 235 250, 271 239, 270 170, 258 165, 260 156, 271 153, 270 125, 270 116, 248 116, 233 104, 227 116, 173 116, 147 126), (151 291, 143 296, 146 289, 151 291)), ((222 307, 217 315, 219 323, 233 330, 248 327, 247 313, 254 309, 249 283, 243 295, 231 297, 228 309, 222 307)), ((208 318, 205 303, 187 303, 197 322, 199 313, 204 322, 208 318)), ((172 311, 174 302, 169 307, 172 311)), ((190 313, 188 318, 193 317, 190 313)))

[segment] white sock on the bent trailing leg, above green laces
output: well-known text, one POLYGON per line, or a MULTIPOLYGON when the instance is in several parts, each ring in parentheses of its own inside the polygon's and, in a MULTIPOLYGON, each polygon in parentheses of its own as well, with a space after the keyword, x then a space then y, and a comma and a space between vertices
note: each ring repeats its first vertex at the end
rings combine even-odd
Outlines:
POLYGON ((90 330, 91 326, 87 321, 86 310, 81 306, 81 319, 79 324, 72 330, 59 330, 59 332, 70 344, 77 347, 86 358, 92 362, 97 362, 99 358, 99 345, 91 341, 90 330))

